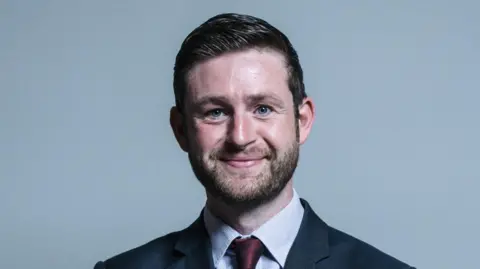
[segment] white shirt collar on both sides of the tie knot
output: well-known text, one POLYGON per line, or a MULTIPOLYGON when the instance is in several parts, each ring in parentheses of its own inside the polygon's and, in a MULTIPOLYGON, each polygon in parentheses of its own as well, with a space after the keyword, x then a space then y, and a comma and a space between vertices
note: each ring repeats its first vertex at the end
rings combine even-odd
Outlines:
MULTIPOLYGON (((260 239, 275 260, 283 267, 293 245, 303 218, 303 206, 295 190, 288 205, 251 235, 260 239)), ((212 244, 213 263, 216 267, 225 255, 230 243, 237 237, 245 237, 204 209, 205 227, 212 244)))

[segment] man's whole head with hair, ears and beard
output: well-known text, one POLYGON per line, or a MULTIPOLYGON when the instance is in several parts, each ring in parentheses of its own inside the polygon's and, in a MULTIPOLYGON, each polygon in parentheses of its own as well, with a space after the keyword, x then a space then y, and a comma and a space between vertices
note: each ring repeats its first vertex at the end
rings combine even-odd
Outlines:
POLYGON ((221 14, 183 42, 170 122, 207 193, 256 205, 291 180, 314 118, 287 37, 247 15, 221 14))

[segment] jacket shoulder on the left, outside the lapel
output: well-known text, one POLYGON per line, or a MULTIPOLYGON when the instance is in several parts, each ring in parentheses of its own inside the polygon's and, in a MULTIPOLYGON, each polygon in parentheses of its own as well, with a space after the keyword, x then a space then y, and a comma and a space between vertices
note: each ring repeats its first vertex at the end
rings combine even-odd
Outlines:
POLYGON ((98 262, 94 269, 163 268, 175 259, 174 247, 181 231, 171 232, 133 249, 98 262), (160 266, 160 267, 158 267, 160 266))

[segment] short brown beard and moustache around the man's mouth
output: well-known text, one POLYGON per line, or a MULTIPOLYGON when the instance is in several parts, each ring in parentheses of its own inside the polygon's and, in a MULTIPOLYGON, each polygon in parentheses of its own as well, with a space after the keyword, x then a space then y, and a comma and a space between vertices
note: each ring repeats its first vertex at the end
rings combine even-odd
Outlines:
POLYGON ((208 194, 229 206, 252 208, 277 197, 291 180, 299 159, 298 138, 293 140, 286 150, 278 153, 271 148, 251 148, 242 150, 232 145, 204 156, 189 152, 188 158, 193 172, 208 194), (232 172, 226 168, 222 156, 242 153, 249 156, 265 156, 263 167, 255 174, 248 169, 232 172))

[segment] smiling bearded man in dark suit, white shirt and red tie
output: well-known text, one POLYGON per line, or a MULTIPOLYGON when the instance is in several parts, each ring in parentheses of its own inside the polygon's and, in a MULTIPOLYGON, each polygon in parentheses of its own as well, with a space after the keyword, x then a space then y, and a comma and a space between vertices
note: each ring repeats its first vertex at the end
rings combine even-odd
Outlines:
POLYGON ((292 176, 312 127, 300 62, 287 37, 247 15, 217 15, 183 42, 170 123, 207 201, 188 228, 95 269, 406 269, 329 227, 292 176))

